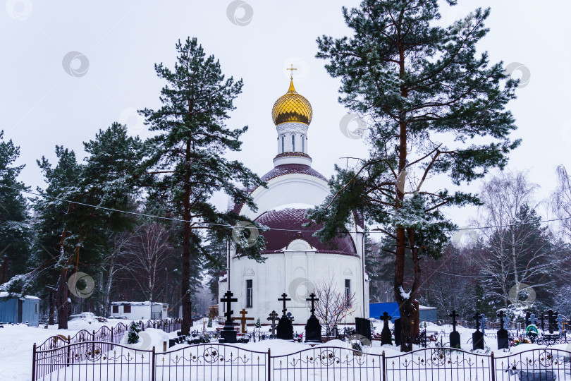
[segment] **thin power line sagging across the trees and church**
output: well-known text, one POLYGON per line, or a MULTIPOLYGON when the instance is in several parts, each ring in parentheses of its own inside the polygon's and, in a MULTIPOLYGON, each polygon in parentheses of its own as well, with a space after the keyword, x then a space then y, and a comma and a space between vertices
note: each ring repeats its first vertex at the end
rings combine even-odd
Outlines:
MULTIPOLYGON (((207 225, 207 226, 222 226, 222 227, 228 227, 231 229, 234 229, 237 226, 232 226, 229 224, 213 224, 211 222, 197 222, 197 221, 189 221, 186 219, 179 219, 179 218, 171 218, 171 217, 164 217, 164 216, 156 216, 154 214, 145 214, 145 213, 140 213, 140 212, 129 212, 128 210, 117 210, 117 209, 113 209, 111 207, 102 207, 102 206, 98 206, 98 205, 91 205, 91 204, 86 204, 84 202, 78 202, 78 201, 70 201, 70 200, 66 200, 64 198, 58 198, 58 197, 53 197, 53 196, 49 196, 49 195, 42 195, 40 193, 34 193, 34 192, 30 192, 30 191, 25 191, 24 189, 20 189, 20 188, 13 188, 11 186, 5 186, 0 184, 0 187, 2 188, 9 188, 12 189, 13 191, 18 191, 21 193, 27 193, 30 195, 35 195, 37 197, 42 197, 42 198, 50 198, 52 200, 58 200, 58 201, 63 201, 63 202, 69 202, 70 204, 75 204, 75 205, 82 205, 82 206, 86 206, 86 207, 94 207, 96 209, 102 209, 102 210, 107 210, 109 212, 118 212, 118 213, 125 213, 125 214, 132 214, 132 215, 136 215, 136 216, 140 216, 140 217, 149 217, 149 218, 156 218, 156 219, 164 219, 167 221, 174 221, 174 222, 190 222, 191 224, 201 224, 201 225, 207 225)), ((444 229, 445 231, 466 231, 466 230, 479 230, 479 229, 498 229, 498 228, 504 228, 504 227, 511 227, 511 226, 522 226, 522 225, 534 225, 534 224, 543 224, 543 223, 547 223, 547 222, 557 222, 557 221, 564 221, 567 219, 571 219, 571 217, 563 217, 563 218, 556 218, 556 219, 545 219, 542 221, 536 221, 536 222, 522 222, 520 224, 506 224, 506 225, 497 225, 497 226, 474 226, 474 227, 465 227, 465 228, 457 228, 457 229, 444 229)), ((256 226, 238 226, 239 229, 258 229, 256 226)), ((206 227, 197 227, 194 229, 207 229, 206 227)), ((262 229, 263 231, 305 231, 308 233, 315 233, 319 230, 300 230, 300 229, 277 229, 277 228, 267 228, 267 229, 262 229)), ((369 234, 371 233, 383 233, 383 231, 368 231, 369 234)))

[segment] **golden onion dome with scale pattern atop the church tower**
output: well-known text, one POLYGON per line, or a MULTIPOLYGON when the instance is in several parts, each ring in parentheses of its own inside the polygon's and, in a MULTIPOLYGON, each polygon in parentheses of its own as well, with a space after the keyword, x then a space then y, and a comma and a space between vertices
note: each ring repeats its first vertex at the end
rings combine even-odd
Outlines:
POLYGON ((271 109, 271 118, 277 126, 286 122, 300 122, 309 125, 312 122, 312 105, 302 95, 297 94, 293 87, 293 80, 290 82, 288 92, 278 98, 271 109))

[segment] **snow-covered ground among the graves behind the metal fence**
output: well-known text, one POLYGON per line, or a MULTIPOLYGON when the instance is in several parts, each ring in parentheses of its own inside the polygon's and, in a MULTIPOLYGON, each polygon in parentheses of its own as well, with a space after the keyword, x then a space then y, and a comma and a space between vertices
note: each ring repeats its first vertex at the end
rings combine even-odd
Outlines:
MULTIPOLYGON (((68 327, 69 329, 59 330, 56 327, 49 327, 49 329, 45 329, 44 327, 36 328, 36 327, 27 327, 25 325, 4 325, 4 328, 0 328, 0 381, 4 380, 18 380, 18 381, 26 381, 31 379, 31 368, 32 368, 32 346, 34 343, 42 344, 46 339, 56 334, 62 334, 63 336, 70 336, 73 337, 81 329, 87 329, 88 331, 97 331, 100 327, 106 325, 108 327, 116 326, 119 322, 122 322, 125 325, 130 323, 130 320, 109 320, 107 322, 97 322, 97 320, 91 318, 81 318, 77 320, 72 320, 69 322, 68 327)), ((198 330, 199 332, 202 331, 203 322, 198 321, 195 322, 195 326, 193 329, 198 330)), ((216 328, 216 322, 214 322, 214 327, 207 327, 207 330, 214 330, 216 328)), ((252 332, 254 329, 253 326, 248 327, 249 331, 252 332)), ((263 326, 262 332, 268 332, 269 327, 263 326)), ((295 326, 295 331, 302 332, 302 326, 295 326)), ((429 332, 438 332, 440 335, 444 334, 445 337, 443 341, 446 343, 448 341, 448 334, 452 330, 450 325, 448 326, 431 326, 427 327, 429 332)), ((462 342, 462 349, 465 351, 470 351, 472 349, 472 344, 467 343, 467 341, 472 337, 472 333, 474 329, 467 329, 465 327, 458 326, 458 331, 461 334, 461 342, 462 342)), ((155 347, 156 353, 162 353, 163 350, 163 342, 168 341, 169 337, 175 337, 176 332, 171 332, 167 334, 166 332, 161 331, 160 329, 147 329, 145 335, 145 339, 149 342, 145 343, 145 347, 150 349, 152 346, 155 347)), ((381 326, 377 325, 375 327, 375 332, 381 332, 381 326)), ((491 334, 495 334, 495 330, 488 330, 486 331, 491 334)), ((430 333, 429 333, 430 334, 430 333)), ((440 341, 440 339, 438 339, 440 341)), ((302 351, 304 349, 308 349, 309 346, 303 343, 293 343, 289 341, 282 341, 282 340, 262 340, 257 342, 252 342, 247 344, 233 344, 233 346, 247 349, 249 351, 259 351, 260 353, 267 353, 268 349, 271 351, 271 356, 285 356, 290 353, 296 353, 302 351)), ((351 351, 348 347, 348 343, 339 340, 329 341, 325 344, 319 344, 315 346, 318 353, 319 349, 322 347, 337 347, 340 349, 338 353, 349 353, 351 356, 351 351)), ((529 349, 538 349, 541 348, 540 346, 534 344, 522 344, 520 346, 515 346, 510 349, 510 353, 520 353, 522 351, 527 351, 529 349)), ((170 349, 167 349, 167 353, 163 356, 168 358, 168 353, 177 351, 179 349, 185 349, 186 353, 190 353, 190 349, 188 349, 188 345, 186 344, 178 344, 173 346, 170 349)), ((415 346, 415 349, 419 349, 415 346)), ((559 344, 556 346, 552 346, 551 349, 560 349, 560 350, 571 350, 571 345, 567 344, 559 344)), ((386 357, 393 357, 399 356, 400 353, 399 348, 397 346, 390 346, 390 345, 380 345, 380 341, 373 341, 372 347, 367 348, 367 353, 372 355, 380 355, 381 353, 385 352, 386 357)), ((496 346, 496 339, 495 337, 490 337, 486 339, 486 351, 494 351, 496 356, 505 356, 508 353, 498 352, 496 346)), ((180 356, 180 352, 176 352, 180 356)), ((199 353, 197 353, 199 354, 199 353)), ((343 354, 345 356, 345 354, 343 354)), ((288 356, 290 358, 290 356, 288 356)), ((283 358, 283 363, 287 363, 288 358, 283 358)), ((378 358, 376 360, 376 364, 378 364, 378 358)), ((165 368, 166 369, 166 368, 165 368)), ((164 370, 162 371, 169 372, 171 370, 164 370)), ((274 370, 275 371, 275 370, 274 370)), ((286 372, 287 370, 282 370, 282 372, 286 372)), ((571 377, 571 375, 570 375, 571 377)), ((515 380, 515 378, 510 379, 515 380)))

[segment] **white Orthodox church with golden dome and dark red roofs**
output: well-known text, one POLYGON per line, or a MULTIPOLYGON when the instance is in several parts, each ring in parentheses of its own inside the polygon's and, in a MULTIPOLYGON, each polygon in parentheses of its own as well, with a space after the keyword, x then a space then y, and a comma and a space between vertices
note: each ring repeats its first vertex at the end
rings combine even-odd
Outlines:
POLYGON ((324 202, 329 195, 327 179, 312 169, 309 156, 309 125, 312 106, 296 92, 293 79, 285 95, 278 98, 271 110, 276 126, 274 169, 262 176, 267 188, 251 189, 257 204, 254 212, 247 205, 229 207, 237 214, 255 220, 269 230, 259 231, 266 239, 264 263, 236 255, 236 246, 228 248, 228 272, 219 279, 219 315, 225 304, 220 302, 231 289, 237 303, 232 309, 245 308, 248 317, 266 318, 272 310, 282 315, 283 293, 293 324, 304 324, 309 317, 305 300, 316 287, 333 284, 338 293, 354 295, 350 315, 343 322, 355 323, 355 317, 369 317, 369 282, 364 272, 364 233, 362 219, 353 219, 348 226, 350 235, 335 238, 333 243, 322 243, 314 237, 319 225, 305 227, 307 209, 324 202))

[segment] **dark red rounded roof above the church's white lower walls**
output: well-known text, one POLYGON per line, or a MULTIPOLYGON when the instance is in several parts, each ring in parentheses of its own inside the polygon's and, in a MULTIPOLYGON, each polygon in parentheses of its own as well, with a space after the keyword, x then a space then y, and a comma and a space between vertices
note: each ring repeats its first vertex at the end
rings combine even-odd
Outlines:
POLYGON ((305 218, 305 209, 269 210, 261 214, 256 222, 268 226, 270 229, 276 229, 260 231, 260 234, 266 238, 265 254, 281 253, 291 241, 302 239, 309 243, 312 248, 315 248, 317 253, 357 255, 355 243, 350 236, 337 237, 326 243, 322 243, 319 238, 313 236, 314 231, 319 230, 321 225, 302 226, 302 224, 309 222, 309 219, 305 218))

